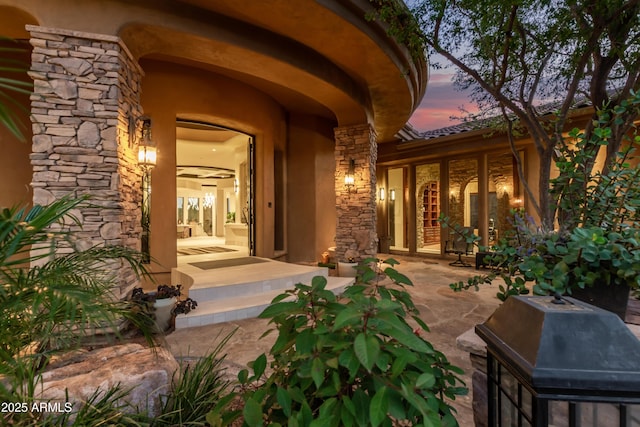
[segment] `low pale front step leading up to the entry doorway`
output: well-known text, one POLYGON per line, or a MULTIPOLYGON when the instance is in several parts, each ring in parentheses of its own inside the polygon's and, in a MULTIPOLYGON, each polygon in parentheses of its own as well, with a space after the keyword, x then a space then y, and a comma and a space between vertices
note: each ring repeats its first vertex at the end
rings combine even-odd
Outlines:
MULTIPOLYGON (((353 282, 354 278, 352 277, 327 277, 326 289, 339 294, 353 282)), ((293 281, 291 286, 287 288, 292 289, 296 283, 310 284, 311 279, 293 281)), ((213 300, 200 301, 194 298, 198 302, 198 307, 189 314, 178 315, 176 317, 176 329, 258 317, 273 298, 287 288, 263 290, 253 295, 232 296, 213 300)))

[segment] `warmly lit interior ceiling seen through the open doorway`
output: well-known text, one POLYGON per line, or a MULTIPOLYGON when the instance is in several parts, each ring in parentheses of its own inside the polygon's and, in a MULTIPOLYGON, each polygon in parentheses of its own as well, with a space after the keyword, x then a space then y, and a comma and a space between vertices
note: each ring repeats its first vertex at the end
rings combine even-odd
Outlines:
POLYGON ((237 154, 246 150, 249 136, 234 130, 178 121, 176 123, 176 176, 201 185, 218 185, 235 178, 237 154))

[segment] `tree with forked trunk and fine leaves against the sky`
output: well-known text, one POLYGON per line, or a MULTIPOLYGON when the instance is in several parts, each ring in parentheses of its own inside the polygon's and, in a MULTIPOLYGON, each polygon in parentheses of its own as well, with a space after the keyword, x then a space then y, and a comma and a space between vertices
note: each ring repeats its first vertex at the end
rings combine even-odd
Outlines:
MULTIPOLYGON (((640 89, 640 0, 416 0, 410 9, 371 2, 374 16, 414 53, 455 66, 455 84, 471 90, 482 114, 499 118, 514 152, 517 136, 532 138, 538 194, 519 170, 537 214, 551 225, 559 208, 548 193, 551 165, 567 143, 572 111, 585 103, 616 108, 640 89)), ((608 159, 638 114, 628 109, 609 123, 608 159)), ((587 123, 587 138, 593 131, 587 123)), ((590 154, 587 167, 597 153, 590 154)))

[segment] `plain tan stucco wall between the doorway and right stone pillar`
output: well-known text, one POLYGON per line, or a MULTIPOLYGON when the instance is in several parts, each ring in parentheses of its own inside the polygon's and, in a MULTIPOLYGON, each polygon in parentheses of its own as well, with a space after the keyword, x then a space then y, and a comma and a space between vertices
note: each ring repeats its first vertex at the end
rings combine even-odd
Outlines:
POLYGON ((289 118, 287 149, 288 261, 319 261, 335 246, 335 123, 306 115, 289 118))

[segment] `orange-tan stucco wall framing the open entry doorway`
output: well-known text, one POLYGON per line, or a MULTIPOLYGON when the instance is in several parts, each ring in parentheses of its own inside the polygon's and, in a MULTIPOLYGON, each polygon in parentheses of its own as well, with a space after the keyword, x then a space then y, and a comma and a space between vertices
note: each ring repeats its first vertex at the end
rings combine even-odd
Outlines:
POLYGON ((154 272, 176 265, 176 118, 225 126, 255 137, 256 255, 273 257, 275 146, 285 144, 285 113, 250 86, 202 69, 143 59, 142 106, 158 145, 152 172, 151 255, 154 272))

